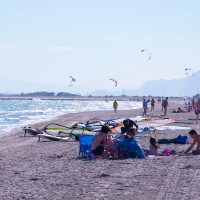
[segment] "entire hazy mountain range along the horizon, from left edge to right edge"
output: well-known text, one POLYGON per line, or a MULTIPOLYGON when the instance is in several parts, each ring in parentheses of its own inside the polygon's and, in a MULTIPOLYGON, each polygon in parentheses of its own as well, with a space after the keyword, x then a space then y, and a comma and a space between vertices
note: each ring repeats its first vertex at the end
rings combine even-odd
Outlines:
POLYGON ((126 90, 124 88, 124 90, 116 92, 96 90, 95 88, 78 85, 70 88, 68 85, 45 85, 37 82, 0 79, 0 93, 30 93, 39 91, 70 92, 87 96, 120 96, 123 93, 128 96, 193 96, 200 93, 200 71, 196 72, 194 76, 186 76, 183 79, 147 81, 137 90, 126 90))

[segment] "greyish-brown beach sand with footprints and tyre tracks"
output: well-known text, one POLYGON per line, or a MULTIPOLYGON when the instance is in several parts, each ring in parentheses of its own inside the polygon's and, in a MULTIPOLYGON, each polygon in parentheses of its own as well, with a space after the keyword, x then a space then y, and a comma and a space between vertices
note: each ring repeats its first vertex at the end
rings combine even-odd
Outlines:
MULTIPOLYGON (((172 113, 184 108, 183 102, 169 102, 167 117, 197 130, 192 113, 172 113), (192 124, 188 124, 192 123, 192 124)), ((143 109, 84 112, 58 116, 32 128, 41 128, 54 122, 70 126, 90 118, 112 119, 141 116, 143 109)), ((163 114, 161 105, 147 114, 163 114)), ((160 131, 157 139, 175 138, 188 131, 160 131)), ((136 136, 145 149, 149 147, 149 134, 136 136)), ((0 199, 200 199, 200 156, 183 155, 187 145, 161 145, 175 150, 176 155, 147 159, 96 159, 78 156, 78 142, 58 142, 41 139, 15 129, 0 138, 0 199)))

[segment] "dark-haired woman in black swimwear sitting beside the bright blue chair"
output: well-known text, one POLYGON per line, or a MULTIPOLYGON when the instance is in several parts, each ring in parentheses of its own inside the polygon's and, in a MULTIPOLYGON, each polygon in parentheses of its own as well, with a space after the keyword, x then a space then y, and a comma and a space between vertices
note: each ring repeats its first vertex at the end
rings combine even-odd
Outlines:
POLYGON ((108 124, 104 124, 101 128, 101 131, 97 133, 91 144, 91 152, 94 155, 102 155, 104 154, 103 158, 108 157, 108 152, 113 146, 113 142, 109 141, 108 139, 108 133, 111 133, 111 129, 108 124))

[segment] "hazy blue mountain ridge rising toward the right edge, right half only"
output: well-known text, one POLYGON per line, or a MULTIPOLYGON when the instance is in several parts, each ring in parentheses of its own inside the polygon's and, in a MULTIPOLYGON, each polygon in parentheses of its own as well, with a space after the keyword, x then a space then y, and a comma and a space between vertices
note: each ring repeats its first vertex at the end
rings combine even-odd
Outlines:
POLYGON ((105 96, 113 95, 119 96, 122 94, 128 96, 194 96, 200 93, 200 71, 196 72, 194 76, 186 76, 183 79, 174 80, 154 80, 147 81, 137 90, 125 90, 118 92, 108 92, 105 90, 96 90, 90 95, 105 96))

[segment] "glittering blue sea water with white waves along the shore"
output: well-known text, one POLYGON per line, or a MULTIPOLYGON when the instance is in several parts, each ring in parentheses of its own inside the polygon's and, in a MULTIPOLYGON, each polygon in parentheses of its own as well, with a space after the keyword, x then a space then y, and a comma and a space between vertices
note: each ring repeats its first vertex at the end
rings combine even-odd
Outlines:
MULTIPOLYGON (((118 102, 118 110, 141 107, 141 102, 118 102)), ((112 101, 0 100, 0 133, 28 124, 45 121, 65 113, 112 109, 112 101)))

